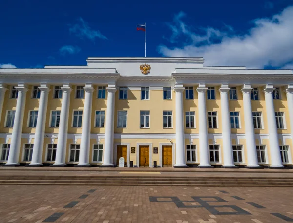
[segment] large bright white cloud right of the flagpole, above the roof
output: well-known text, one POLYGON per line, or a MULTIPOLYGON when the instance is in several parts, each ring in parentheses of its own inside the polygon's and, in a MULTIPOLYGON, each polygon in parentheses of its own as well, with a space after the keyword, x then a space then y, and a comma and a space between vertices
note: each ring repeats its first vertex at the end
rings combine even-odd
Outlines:
MULTIPOLYGON (((185 22, 184 13, 174 17, 171 43, 186 39, 181 47, 158 46, 159 52, 169 57, 204 57, 205 65, 283 67, 293 63, 293 6, 272 18, 254 20, 254 26, 243 35, 233 29, 219 31, 207 28, 204 34, 195 33, 185 22), (214 40, 217 41, 214 41, 214 40)), ((229 26, 226 26, 226 29, 229 26)))

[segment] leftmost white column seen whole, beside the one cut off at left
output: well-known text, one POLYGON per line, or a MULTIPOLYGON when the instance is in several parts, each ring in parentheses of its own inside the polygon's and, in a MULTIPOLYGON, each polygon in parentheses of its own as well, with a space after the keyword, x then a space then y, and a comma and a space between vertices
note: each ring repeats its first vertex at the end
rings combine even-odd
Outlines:
POLYGON ((18 84, 18 87, 15 88, 18 90, 18 97, 16 102, 16 111, 14 116, 9 156, 8 161, 5 164, 6 166, 19 165, 23 115, 25 109, 26 92, 28 91, 24 84, 18 84))

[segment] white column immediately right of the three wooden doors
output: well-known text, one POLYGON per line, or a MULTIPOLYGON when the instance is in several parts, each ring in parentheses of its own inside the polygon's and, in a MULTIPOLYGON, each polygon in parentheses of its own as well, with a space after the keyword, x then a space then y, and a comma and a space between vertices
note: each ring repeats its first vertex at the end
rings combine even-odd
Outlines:
POLYGON ((184 87, 175 87, 175 109, 176 109, 176 147, 174 167, 187 167, 185 163, 185 142, 183 123, 183 91, 184 87))

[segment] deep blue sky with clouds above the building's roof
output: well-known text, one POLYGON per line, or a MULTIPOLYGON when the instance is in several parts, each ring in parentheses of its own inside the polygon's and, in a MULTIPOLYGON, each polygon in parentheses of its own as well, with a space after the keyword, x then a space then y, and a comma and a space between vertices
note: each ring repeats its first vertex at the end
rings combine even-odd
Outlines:
POLYGON ((293 0, 1 0, 0 67, 143 57, 144 22, 147 57, 293 69, 293 0))

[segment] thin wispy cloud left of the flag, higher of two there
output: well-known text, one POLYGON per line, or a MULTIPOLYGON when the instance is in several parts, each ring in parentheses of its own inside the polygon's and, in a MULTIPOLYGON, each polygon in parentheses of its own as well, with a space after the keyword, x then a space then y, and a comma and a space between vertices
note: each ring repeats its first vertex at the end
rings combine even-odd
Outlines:
POLYGON ((69 28, 70 33, 74 33, 76 36, 80 38, 88 38, 92 41, 94 41, 96 38, 104 39, 106 40, 107 37, 104 36, 99 30, 94 30, 91 27, 88 26, 87 22, 84 22, 83 18, 79 18, 79 23, 71 25, 69 28))

